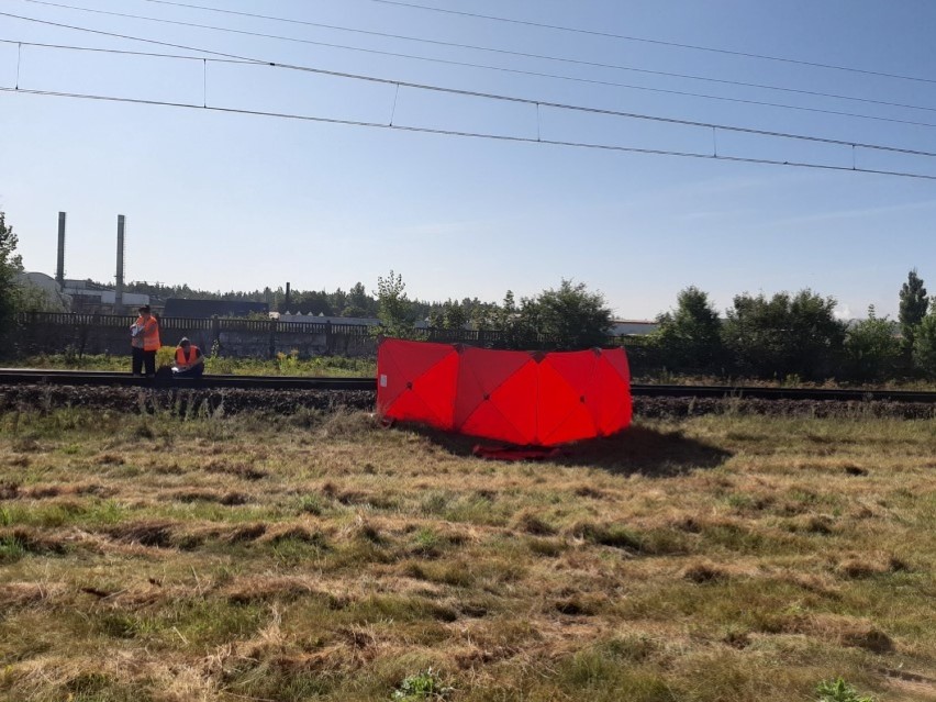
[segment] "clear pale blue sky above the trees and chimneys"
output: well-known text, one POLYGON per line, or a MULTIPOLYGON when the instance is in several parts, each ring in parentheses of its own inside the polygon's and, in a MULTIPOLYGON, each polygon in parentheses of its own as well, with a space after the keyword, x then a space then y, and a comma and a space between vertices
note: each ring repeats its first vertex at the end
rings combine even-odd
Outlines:
MULTIPOLYGON (((183 0, 182 0, 183 1, 183 0)), ((560 32, 372 0, 192 0, 196 4, 436 42, 643 70, 847 94, 888 107, 212 13, 144 0, 66 4, 419 55, 579 81, 244 36, 25 0, 0 12, 163 42, 459 90, 602 110, 936 151, 936 126, 716 101, 782 102, 936 125, 936 83, 560 32)), ((936 3, 904 0, 420 0, 560 26, 934 75, 936 3)), ((0 16, 0 38, 183 53, 0 16)), ((191 55, 198 55, 190 53, 191 55)), ((707 152, 711 130, 542 109, 322 75, 0 44, 0 87, 388 121, 707 152), (18 62, 19 55, 19 62, 18 62), (394 108, 395 100, 395 108, 394 108)), ((847 147, 720 131, 718 153, 851 165, 847 147)), ((736 293, 810 287, 845 316, 896 314, 916 267, 936 276, 936 181, 638 155, 272 119, 197 109, 0 92, 0 209, 27 269, 54 272, 68 212, 67 275, 112 280, 116 215, 126 276, 230 290, 376 288, 391 268, 412 297, 501 300, 562 278, 648 319, 694 285, 720 310, 736 293)), ((936 159, 858 149, 860 167, 936 174, 936 159)), ((929 280, 936 292, 936 278, 929 280)))

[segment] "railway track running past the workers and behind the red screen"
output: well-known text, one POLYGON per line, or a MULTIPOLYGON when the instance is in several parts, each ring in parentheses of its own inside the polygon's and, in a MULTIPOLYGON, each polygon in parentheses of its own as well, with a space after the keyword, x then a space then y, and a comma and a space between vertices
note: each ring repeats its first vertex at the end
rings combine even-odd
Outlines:
MULTIPOLYGON (((0 368, 0 387, 12 385, 99 386, 190 389, 258 390, 363 390, 374 392, 374 378, 313 378, 282 376, 205 376, 199 380, 135 378, 126 372, 0 368)), ((915 390, 829 390, 818 388, 766 388, 732 386, 633 385, 634 397, 737 398, 755 400, 826 400, 838 402, 936 403, 936 392, 915 390)))

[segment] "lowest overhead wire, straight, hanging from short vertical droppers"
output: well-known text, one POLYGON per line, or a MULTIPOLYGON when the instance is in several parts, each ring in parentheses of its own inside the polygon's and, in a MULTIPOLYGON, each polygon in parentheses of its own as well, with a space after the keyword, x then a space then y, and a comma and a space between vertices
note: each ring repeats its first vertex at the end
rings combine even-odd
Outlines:
MULTIPOLYGON (((314 116, 308 114, 290 114, 283 112, 266 112, 263 110, 243 110, 238 108, 221 108, 213 105, 200 105, 194 103, 187 102, 168 102, 163 100, 144 100, 140 98, 119 98, 113 96, 99 96, 99 94, 88 94, 88 93, 74 93, 74 92, 57 92, 52 90, 26 90, 26 89, 15 89, 15 88, 4 88, 0 87, 0 92, 16 92, 24 94, 34 94, 34 96, 46 96, 46 97, 57 97, 57 98, 74 98, 74 99, 86 99, 86 100, 103 100, 108 102, 125 102, 125 103, 135 103, 135 104, 145 104, 145 105, 160 105, 160 107, 171 107, 171 108, 186 108, 190 110, 205 110, 211 112, 223 112, 229 114, 246 114, 253 116, 267 116, 267 118, 278 118, 278 119, 288 119, 288 120, 301 120, 308 122, 320 122, 326 124, 339 124, 339 125, 348 125, 348 126, 369 126, 376 129, 383 130, 395 130, 400 132, 415 132, 423 134, 437 134, 444 136, 463 136, 463 137, 475 137, 475 138, 487 138, 499 142, 515 142, 523 144, 544 144, 548 146, 567 146, 573 148, 591 148, 599 151, 610 151, 610 152, 624 152, 631 154, 646 154, 646 155, 655 155, 655 156, 677 156, 683 158, 703 158, 706 160, 725 160, 740 164, 761 164, 761 165, 771 165, 771 166, 791 166, 796 168, 815 168, 820 170, 833 170, 833 171, 849 171, 849 172, 860 172, 860 174, 869 174, 869 175, 878 175, 878 176, 896 176, 902 178, 916 178, 922 180, 936 180, 936 176, 927 176, 925 174, 913 174, 907 171, 900 170, 882 170, 876 168, 858 168, 857 166, 847 167, 847 166, 832 166, 826 164, 810 164, 810 163, 801 163, 801 161, 791 161, 791 160, 777 160, 770 158, 749 158, 743 156, 725 156, 718 154, 701 154, 697 152, 676 152, 676 151, 667 151, 667 149, 658 149, 658 148, 639 148, 636 146, 615 146, 611 144, 589 144, 587 142, 567 142, 559 140, 544 140, 544 138, 533 138, 528 136, 510 136, 505 134, 486 134, 481 132, 463 132, 463 131, 454 131, 454 130, 439 130, 439 129, 431 129, 424 126, 406 126, 399 124, 389 124, 381 122, 364 122, 357 120, 339 120, 335 118, 323 118, 323 116, 314 116)), ((936 154, 934 154, 936 155, 936 154)))

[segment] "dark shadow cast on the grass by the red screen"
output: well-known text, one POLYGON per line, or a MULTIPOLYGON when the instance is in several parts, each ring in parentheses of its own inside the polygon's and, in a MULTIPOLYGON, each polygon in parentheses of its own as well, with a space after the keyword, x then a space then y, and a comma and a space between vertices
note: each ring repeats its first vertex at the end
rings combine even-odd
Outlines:
MULTIPOLYGON (((471 456, 479 444, 500 447, 503 444, 477 436, 442 432, 427 426, 406 425, 433 444, 455 456, 471 456)), ((559 446, 544 461, 559 466, 599 468, 616 475, 644 475, 666 478, 684 475, 698 468, 715 468, 732 454, 718 446, 687 438, 680 432, 631 426, 613 436, 593 438, 559 446)))

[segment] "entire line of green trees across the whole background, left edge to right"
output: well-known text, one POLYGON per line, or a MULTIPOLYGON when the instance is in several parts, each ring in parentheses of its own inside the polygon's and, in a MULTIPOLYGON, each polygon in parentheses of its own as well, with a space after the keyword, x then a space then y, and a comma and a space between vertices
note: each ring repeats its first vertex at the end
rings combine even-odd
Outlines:
MULTIPOLYGON (((0 337, 13 315, 30 304, 29 291, 15 285, 22 260, 16 236, 0 212, 0 337)), ((276 309, 345 316, 378 316, 385 332, 411 336, 416 320, 442 330, 498 332, 504 348, 577 349, 608 343, 612 313, 601 293, 584 283, 562 280, 557 288, 515 299, 508 291, 501 304, 477 298, 461 301, 410 300, 402 276, 379 277, 368 293, 357 282, 345 292, 294 291, 287 305, 281 290, 252 293, 208 293, 188 286, 135 283, 132 290, 164 297, 215 297, 265 300, 276 309)), ((936 300, 936 299, 934 299, 936 300)), ((638 367, 702 372, 803 379, 849 378, 879 380, 900 376, 936 377, 936 301, 927 296, 923 279, 911 270, 900 291, 896 321, 879 317, 873 308, 866 320, 848 324, 835 315, 836 300, 812 290, 795 294, 736 296, 721 316, 706 292, 682 290, 673 310, 658 317, 659 328, 632 344, 638 367)))

